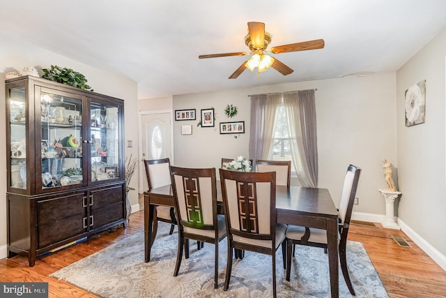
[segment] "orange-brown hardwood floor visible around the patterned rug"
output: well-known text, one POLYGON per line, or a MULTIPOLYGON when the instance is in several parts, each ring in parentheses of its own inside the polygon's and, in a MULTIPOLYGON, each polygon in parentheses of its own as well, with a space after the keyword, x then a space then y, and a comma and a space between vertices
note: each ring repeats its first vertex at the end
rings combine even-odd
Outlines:
MULTIPOLYGON (((0 281, 47 282, 49 297, 96 297, 49 274, 143 229, 144 211, 138 211, 130 216, 127 229, 116 228, 46 255, 34 267, 21 256, 0 260, 0 281)), ((403 232, 384 229, 380 224, 353 224, 348 239, 364 244, 390 297, 446 297, 446 272, 403 232), (404 237, 412 247, 399 246, 392 235, 404 237)))

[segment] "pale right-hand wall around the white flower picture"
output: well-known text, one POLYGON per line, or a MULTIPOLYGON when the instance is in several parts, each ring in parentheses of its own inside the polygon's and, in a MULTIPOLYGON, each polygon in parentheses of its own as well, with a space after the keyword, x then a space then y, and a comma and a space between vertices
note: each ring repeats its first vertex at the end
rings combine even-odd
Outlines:
POLYGON ((403 193, 399 218, 443 255, 446 270, 445 56, 443 30, 397 72, 397 156, 403 193), (404 92, 422 80, 426 122, 406 127, 404 92))

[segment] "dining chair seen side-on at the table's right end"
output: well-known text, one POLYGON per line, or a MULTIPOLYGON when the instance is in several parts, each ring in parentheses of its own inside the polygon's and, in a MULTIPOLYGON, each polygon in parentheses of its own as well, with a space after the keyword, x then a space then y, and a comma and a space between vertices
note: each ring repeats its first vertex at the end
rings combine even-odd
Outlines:
MULTIPOLYGON (((361 169, 355 165, 348 165, 346 176, 344 179, 344 187, 342 188, 341 202, 339 203, 339 260, 341 262, 342 274, 350 290, 351 295, 355 295, 355 290, 351 284, 350 276, 348 275, 346 262, 346 244, 348 236, 348 228, 350 226, 351 214, 353 211, 353 204, 355 202, 355 195, 357 183, 360 179, 361 169)), ((324 248, 325 252, 328 250, 327 232, 316 228, 306 228, 296 225, 289 225, 286 231, 286 280, 290 280, 291 271, 291 251, 294 244, 316 246, 324 248)))

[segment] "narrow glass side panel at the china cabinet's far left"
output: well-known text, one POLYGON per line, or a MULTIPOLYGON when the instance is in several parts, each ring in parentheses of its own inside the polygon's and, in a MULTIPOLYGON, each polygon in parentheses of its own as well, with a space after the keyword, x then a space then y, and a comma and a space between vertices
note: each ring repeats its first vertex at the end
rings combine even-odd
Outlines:
POLYGON ((26 189, 26 96, 25 87, 8 90, 10 187, 26 189))

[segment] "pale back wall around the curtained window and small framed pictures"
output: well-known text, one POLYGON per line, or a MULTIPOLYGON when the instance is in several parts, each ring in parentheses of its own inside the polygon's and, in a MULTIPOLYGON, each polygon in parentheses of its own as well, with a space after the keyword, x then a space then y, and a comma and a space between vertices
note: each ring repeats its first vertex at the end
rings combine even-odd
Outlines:
POLYGON ((386 186, 382 159, 396 163, 395 75, 383 73, 367 77, 280 84, 252 89, 236 89, 206 94, 174 96, 174 110, 197 109, 197 121, 175 121, 175 164, 185 167, 220 167, 220 160, 248 155, 249 94, 316 88, 318 125, 318 186, 329 188, 339 205, 344 174, 349 163, 362 167, 357 191, 360 204, 354 211, 385 214, 385 202, 378 188, 386 186), (227 104, 238 107, 238 115, 224 114, 227 104), (197 127, 201 109, 215 108, 215 128, 197 127), (245 121, 245 134, 220 135, 219 124, 245 121), (193 126, 192 135, 181 135, 180 126, 193 126))

